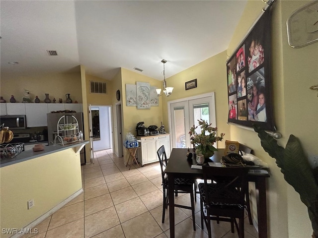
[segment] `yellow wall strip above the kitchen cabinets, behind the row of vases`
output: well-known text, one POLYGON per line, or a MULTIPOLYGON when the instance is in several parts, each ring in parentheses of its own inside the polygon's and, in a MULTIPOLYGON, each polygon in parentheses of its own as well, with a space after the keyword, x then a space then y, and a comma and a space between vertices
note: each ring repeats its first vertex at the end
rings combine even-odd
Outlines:
POLYGON ((34 103, 35 96, 38 96, 41 103, 44 103, 45 93, 49 94, 51 103, 53 98, 59 102, 62 98, 65 103, 65 94, 70 93, 73 101, 82 103, 80 73, 59 73, 59 74, 43 74, 31 75, 12 78, 1 77, 0 95, 10 102, 11 95, 14 96, 16 102, 21 103, 24 89, 29 90, 30 99, 34 103))

